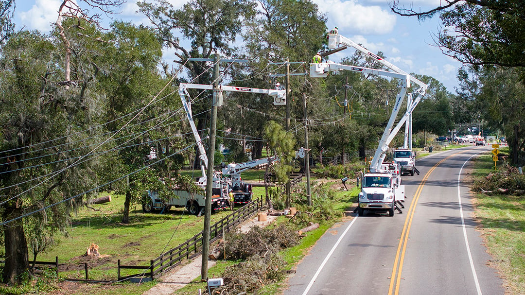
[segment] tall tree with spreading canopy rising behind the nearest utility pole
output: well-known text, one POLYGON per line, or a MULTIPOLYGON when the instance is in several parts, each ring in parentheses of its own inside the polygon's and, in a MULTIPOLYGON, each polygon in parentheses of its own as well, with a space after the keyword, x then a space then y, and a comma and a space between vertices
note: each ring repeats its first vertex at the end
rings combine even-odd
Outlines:
MULTIPOLYGON (((165 0, 155 3, 138 2, 140 12, 154 25, 163 46, 173 49, 174 62, 184 66, 193 83, 212 83, 212 68, 203 61, 188 61, 188 58, 210 58, 215 52, 229 57, 233 55, 233 43, 240 33, 243 22, 254 14, 251 0, 191 0, 182 8, 175 9, 165 0), (190 41, 190 48, 181 43, 180 35, 190 41)), ((173 75, 164 65, 167 75, 173 75)), ((192 97, 198 92, 189 90, 192 97)), ((211 97, 193 103, 197 130, 204 130, 208 122, 211 97)), ((201 138, 205 138, 201 134, 201 138)), ((194 166, 198 166, 195 157, 194 166)))

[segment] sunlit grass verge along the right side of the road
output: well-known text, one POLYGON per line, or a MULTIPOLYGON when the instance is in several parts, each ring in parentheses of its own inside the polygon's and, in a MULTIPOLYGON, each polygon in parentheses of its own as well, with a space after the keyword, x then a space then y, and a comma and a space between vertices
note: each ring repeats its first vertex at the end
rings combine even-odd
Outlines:
MULTIPOLYGON (((508 153, 508 148, 502 148, 508 153)), ((500 164, 500 162, 498 162, 500 164)), ((493 171, 491 156, 482 155, 475 162, 474 181, 493 171)), ((505 279, 508 292, 525 293, 525 197, 475 194, 475 217, 481 235, 492 255, 492 266, 505 279)))

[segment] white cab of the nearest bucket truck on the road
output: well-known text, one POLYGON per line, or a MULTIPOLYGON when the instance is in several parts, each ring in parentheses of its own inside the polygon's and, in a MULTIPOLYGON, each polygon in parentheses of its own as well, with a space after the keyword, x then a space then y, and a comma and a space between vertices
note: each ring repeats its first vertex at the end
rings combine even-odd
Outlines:
POLYGON ((365 210, 386 213, 394 216, 396 201, 404 201, 405 186, 400 178, 390 172, 366 173, 358 178, 359 193, 358 213, 365 210))

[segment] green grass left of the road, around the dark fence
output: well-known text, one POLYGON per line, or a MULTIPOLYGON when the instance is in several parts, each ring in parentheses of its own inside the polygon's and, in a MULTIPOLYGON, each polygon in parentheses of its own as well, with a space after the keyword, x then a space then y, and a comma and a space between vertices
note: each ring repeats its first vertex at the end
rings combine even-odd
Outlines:
MULTIPOLYGON (((190 175, 193 172, 185 171, 183 173, 190 175)), ((199 174, 198 171, 196 174, 199 174)), ((264 170, 243 172, 243 178, 247 181, 258 181, 262 178, 262 175, 264 175, 264 170)), ((312 178, 313 181, 314 179, 312 178)), ((339 182, 334 180, 333 183, 339 182)), ((351 184, 347 183, 347 186, 350 192, 338 191, 336 193, 336 197, 333 200, 334 209, 344 211, 345 208, 352 206, 352 203, 355 201, 358 190, 351 187, 351 184)), ((264 187, 254 187, 253 191, 254 198, 265 195, 264 187)), ((72 218, 68 236, 64 237, 57 234, 58 244, 48 252, 39 254, 37 260, 54 261, 55 256, 58 256, 60 265, 67 264, 69 266, 69 270, 60 271, 59 277, 61 281, 64 278, 85 278, 83 262, 88 262, 90 279, 116 280, 118 259, 121 260, 123 265, 147 266, 149 261, 159 256, 164 249, 167 250, 181 244, 203 228, 204 217, 189 215, 183 208, 172 208, 169 214, 145 214, 142 213, 140 205, 132 206, 130 223, 121 224, 123 203, 123 196, 112 195, 110 203, 90 205, 93 209, 80 208, 78 213, 72 218), (169 240, 170 243, 167 243, 169 240), (99 246, 99 252, 103 256, 100 260, 82 257, 91 243, 99 246), (102 261, 106 263, 102 263, 102 261)), ((212 224, 229 213, 229 211, 220 211, 212 214, 212 224)), ((286 222, 287 220, 282 217, 281 222, 286 222)), ((338 222, 338 220, 340 219, 330 220, 321 224, 319 229, 308 233, 308 236, 301 240, 300 245, 284 250, 282 255, 285 256, 286 261, 289 263, 289 268, 306 255, 307 249, 319 239, 325 230, 330 228, 335 222, 338 222)), ((227 266, 235 263, 232 261, 219 261, 214 267, 209 269, 209 276, 218 277, 227 266)), ((121 270, 121 276, 136 272, 136 270, 121 270)), ((54 279, 54 282, 56 284, 56 279, 54 279)), ((74 290, 62 290, 60 294, 142 294, 145 290, 154 286, 155 283, 149 282, 139 285, 137 283, 123 282, 111 286, 80 284, 80 287, 76 286, 74 290)), ((48 284, 48 287, 51 289, 56 288, 54 284, 48 284)), ((281 284, 282 282, 276 283, 275 287, 269 287, 268 293, 273 292, 272 288, 280 288, 281 284)), ((64 285, 64 282, 60 283, 61 287, 64 287, 64 285)), ((197 289, 204 289, 205 287, 206 284, 199 282, 197 278, 194 283, 181 289, 180 292, 177 291, 177 294, 196 294, 197 289)), ((0 293, 25 294, 34 293, 35 290, 37 290, 35 286, 19 286, 18 288, 12 288, 10 291, 0 289, 0 293), (13 290, 18 291, 15 292, 13 290)), ((49 291, 46 290, 46 292, 49 291)))

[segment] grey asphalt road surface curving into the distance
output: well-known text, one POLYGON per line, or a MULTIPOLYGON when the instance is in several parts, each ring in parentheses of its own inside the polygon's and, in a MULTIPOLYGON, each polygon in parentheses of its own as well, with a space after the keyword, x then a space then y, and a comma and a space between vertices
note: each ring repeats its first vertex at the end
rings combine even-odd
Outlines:
POLYGON ((430 154, 402 176, 403 214, 367 213, 335 225, 289 279, 285 295, 504 294, 471 217, 469 159, 490 146, 430 154))

